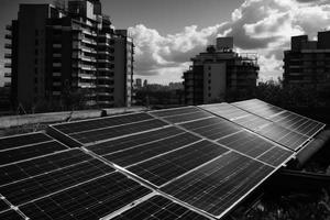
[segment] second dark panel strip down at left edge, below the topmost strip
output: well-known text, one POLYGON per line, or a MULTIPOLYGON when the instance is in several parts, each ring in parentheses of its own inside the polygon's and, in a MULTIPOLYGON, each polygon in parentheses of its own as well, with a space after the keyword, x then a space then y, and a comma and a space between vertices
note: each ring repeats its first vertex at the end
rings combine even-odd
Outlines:
POLYGON ((12 148, 0 153, 0 165, 20 162, 64 150, 67 150, 67 147, 55 141, 12 148))

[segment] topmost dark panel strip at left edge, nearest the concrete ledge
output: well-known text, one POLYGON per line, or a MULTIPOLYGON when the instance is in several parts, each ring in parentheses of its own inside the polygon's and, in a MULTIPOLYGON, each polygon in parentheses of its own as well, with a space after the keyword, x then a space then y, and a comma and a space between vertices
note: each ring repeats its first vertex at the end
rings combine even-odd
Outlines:
POLYGON ((52 139, 43 133, 29 133, 24 135, 15 135, 0 139, 0 151, 9 150, 13 147, 20 147, 28 144, 34 144, 52 139))

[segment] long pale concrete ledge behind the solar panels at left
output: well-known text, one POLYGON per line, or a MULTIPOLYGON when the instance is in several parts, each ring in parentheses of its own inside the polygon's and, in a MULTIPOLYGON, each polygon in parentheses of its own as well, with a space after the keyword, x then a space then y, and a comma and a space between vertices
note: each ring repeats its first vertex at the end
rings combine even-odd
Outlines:
MULTIPOLYGON (((145 111, 144 107, 131 107, 131 108, 113 108, 105 109, 107 116, 139 112, 145 111)), ((0 129, 9 129, 13 127, 21 127, 24 124, 37 124, 37 123, 55 123, 68 120, 79 119, 92 119, 101 117, 102 110, 82 110, 82 111, 63 111, 63 112, 51 112, 51 113, 36 113, 36 114, 24 114, 24 116, 9 116, 0 118, 0 129)))

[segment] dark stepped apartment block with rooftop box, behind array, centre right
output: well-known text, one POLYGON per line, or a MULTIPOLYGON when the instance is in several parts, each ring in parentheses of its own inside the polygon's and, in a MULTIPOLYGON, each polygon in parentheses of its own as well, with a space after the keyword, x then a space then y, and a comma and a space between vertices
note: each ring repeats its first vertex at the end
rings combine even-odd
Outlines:
POLYGON ((256 87, 257 56, 235 53, 233 37, 218 37, 216 46, 208 46, 191 61, 184 73, 187 105, 222 101, 229 90, 249 92, 256 87))

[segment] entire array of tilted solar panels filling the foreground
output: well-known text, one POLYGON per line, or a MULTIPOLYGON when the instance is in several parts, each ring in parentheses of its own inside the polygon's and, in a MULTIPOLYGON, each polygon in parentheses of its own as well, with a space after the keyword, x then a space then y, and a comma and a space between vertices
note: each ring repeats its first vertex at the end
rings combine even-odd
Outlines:
POLYGON ((323 128, 250 101, 0 139, 0 219, 221 218, 323 128))

